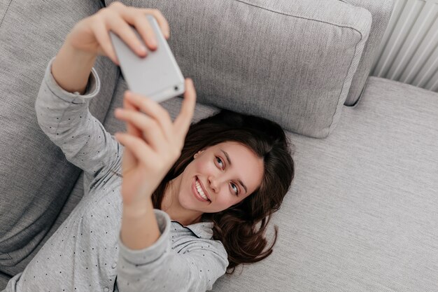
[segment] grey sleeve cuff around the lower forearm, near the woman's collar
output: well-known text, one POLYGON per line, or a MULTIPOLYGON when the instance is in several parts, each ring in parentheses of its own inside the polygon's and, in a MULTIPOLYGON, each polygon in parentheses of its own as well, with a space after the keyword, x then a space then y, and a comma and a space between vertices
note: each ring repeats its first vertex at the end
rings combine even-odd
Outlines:
POLYGON ((146 249, 129 249, 127 246, 125 246, 125 244, 122 243, 119 232, 119 256, 127 262, 132 263, 133 265, 147 265, 148 263, 152 263, 153 261, 160 258, 170 247, 170 217, 166 212, 159 209, 154 209, 154 212, 155 218, 157 218, 157 224, 158 228, 160 229, 161 235, 153 245, 146 247, 146 249))

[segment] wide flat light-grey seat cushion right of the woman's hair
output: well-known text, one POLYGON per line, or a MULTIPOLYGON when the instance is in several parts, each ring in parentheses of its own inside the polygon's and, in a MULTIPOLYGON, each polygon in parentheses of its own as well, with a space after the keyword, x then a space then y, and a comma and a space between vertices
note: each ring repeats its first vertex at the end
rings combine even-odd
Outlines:
POLYGON ((329 137, 288 137, 274 252, 213 291, 437 291, 438 94, 371 77, 329 137))

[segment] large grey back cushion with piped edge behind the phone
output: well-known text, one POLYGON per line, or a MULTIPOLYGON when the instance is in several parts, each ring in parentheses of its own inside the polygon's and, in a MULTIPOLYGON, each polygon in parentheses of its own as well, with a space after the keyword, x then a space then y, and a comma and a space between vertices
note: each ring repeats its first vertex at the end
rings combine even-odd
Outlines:
POLYGON ((338 0, 122 2, 162 11, 199 102, 311 137, 337 124, 372 22, 338 0))

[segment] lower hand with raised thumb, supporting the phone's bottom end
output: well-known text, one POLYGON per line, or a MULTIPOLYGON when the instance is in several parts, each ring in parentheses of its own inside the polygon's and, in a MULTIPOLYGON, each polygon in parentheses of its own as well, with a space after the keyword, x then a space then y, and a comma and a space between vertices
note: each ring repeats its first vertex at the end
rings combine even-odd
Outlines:
POLYGON ((122 158, 124 206, 134 206, 148 199, 179 158, 195 103, 196 91, 190 78, 185 79, 183 106, 174 123, 157 102, 133 92, 125 93, 124 109, 116 109, 115 117, 127 122, 127 132, 114 135, 125 146, 122 158))

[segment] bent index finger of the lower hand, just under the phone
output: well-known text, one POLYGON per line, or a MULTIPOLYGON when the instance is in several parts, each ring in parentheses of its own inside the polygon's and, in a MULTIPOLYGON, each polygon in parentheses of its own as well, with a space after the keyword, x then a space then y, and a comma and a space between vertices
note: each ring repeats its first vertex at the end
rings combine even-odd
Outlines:
POLYGON ((167 141, 171 141, 173 135, 172 120, 169 116, 169 112, 164 109, 164 107, 148 97, 131 91, 125 92, 125 99, 141 109, 141 111, 150 116, 150 118, 153 118, 155 121, 157 121, 162 129, 164 137, 167 139, 167 141))

